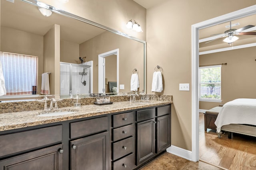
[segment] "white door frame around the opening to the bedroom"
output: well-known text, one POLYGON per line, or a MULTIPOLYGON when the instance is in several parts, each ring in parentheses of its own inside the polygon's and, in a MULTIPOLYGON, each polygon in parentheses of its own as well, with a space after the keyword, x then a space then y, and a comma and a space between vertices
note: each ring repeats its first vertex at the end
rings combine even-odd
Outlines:
POLYGON ((256 5, 192 25, 192 161, 199 160, 199 29, 256 14, 256 5))

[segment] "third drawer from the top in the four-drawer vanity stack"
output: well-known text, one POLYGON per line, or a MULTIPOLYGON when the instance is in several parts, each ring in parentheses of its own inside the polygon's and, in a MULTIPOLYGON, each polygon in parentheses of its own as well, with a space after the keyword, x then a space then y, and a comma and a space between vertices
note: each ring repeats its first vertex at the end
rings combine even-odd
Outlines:
POLYGON ((113 143, 113 160, 134 152, 134 137, 113 143))

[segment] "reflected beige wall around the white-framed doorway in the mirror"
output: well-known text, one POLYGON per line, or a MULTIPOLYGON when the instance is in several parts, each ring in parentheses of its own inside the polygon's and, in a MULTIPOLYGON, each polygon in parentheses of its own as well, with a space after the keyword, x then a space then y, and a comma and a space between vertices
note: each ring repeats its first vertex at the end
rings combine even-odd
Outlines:
POLYGON ((138 69, 139 90, 142 91, 144 84, 143 43, 106 31, 80 44, 79 47, 80 57, 86 56, 88 61, 93 60, 93 75, 95 75, 93 76, 93 93, 98 93, 98 55, 114 49, 119 49, 119 84, 124 84, 124 90, 119 90, 119 92, 130 92, 130 80, 134 68, 138 69))

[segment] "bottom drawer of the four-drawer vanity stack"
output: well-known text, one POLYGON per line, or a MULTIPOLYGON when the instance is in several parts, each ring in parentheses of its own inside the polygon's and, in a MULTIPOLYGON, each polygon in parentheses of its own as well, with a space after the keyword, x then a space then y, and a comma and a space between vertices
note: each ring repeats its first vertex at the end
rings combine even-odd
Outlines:
POLYGON ((113 170, 133 170, 135 168, 134 153, 113 163, 113 170))

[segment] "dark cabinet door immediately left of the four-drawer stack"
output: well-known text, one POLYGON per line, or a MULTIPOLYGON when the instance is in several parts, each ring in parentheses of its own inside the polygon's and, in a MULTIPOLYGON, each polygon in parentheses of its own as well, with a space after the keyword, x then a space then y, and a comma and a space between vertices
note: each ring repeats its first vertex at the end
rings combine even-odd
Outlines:
POLYGON ((71 170, 108 170, 108 132, 72 141, 71 170))

